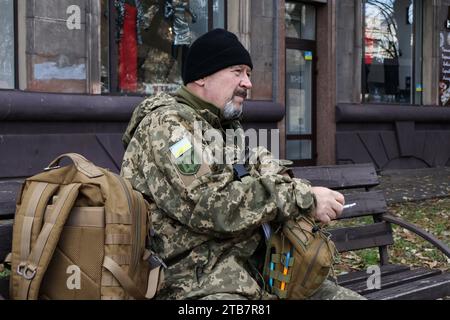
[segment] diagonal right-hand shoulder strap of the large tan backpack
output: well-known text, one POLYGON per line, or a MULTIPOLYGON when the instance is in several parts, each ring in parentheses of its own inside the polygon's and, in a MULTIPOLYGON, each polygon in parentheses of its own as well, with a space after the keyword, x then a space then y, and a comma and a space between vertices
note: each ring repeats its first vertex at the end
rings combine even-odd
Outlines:
POLYGON ((38 298, 42 278, 56 249, 80 187, 80 183, 74 183, 61 188, 54 209, 50 216, 46 218, 26 262, 22 261, 17 267, 16 272, 20 275, 20 277, 17 277, 19 282, 17 299, 35 300, 38 298))

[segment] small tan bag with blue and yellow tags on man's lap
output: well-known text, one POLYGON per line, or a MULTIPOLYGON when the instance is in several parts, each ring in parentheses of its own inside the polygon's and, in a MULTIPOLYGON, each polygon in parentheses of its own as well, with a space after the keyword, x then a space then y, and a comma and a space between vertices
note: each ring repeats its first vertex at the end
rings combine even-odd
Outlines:
POLYGON ((306 299, 329 276, 336 258, 330 235, 312 219, 287 221, 267 241, 267 289, 280 299, 306 299))

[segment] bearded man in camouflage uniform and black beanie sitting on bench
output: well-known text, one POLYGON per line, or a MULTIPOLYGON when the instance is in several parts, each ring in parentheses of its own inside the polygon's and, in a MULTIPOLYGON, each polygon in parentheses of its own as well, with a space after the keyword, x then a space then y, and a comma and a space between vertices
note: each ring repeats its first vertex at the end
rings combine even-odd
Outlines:
MULTIPOLYGON (((216 29, 193 43, 185 63, 185 86, 143 101, 124 135, 121 174, 157 206, 152 250, 168 266, 158 298, 273 299, 251 263, 264 244, 261 225, 303 214, 327 223, 341 214, 344 197, 291 178, 263 148, 247 174, 236 173, 236 159, 218 161, 225 130, 241 128, 250 55, 235 35, 216 29), (198 141, 199 124, 219 138, 198 141)), ((326 281, 312 298, 360 296, 326 281)))

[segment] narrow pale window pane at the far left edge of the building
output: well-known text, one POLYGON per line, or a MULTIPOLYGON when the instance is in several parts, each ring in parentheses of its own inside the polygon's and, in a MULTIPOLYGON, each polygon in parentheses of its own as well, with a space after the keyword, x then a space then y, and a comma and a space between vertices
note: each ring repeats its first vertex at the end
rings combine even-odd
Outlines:
POLYGON ((0 0, 0 89, 14 88, 13 0, 0 0))

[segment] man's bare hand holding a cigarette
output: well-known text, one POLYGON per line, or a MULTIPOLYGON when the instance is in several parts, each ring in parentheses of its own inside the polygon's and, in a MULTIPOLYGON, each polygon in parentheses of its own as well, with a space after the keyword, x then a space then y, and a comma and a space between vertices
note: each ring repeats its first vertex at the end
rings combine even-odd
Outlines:
POLYGON ((317 201, 314 219, 328 224, 342 214, 345 199, 341 193, 323 187, 312 187, 311 191, 317 201))

